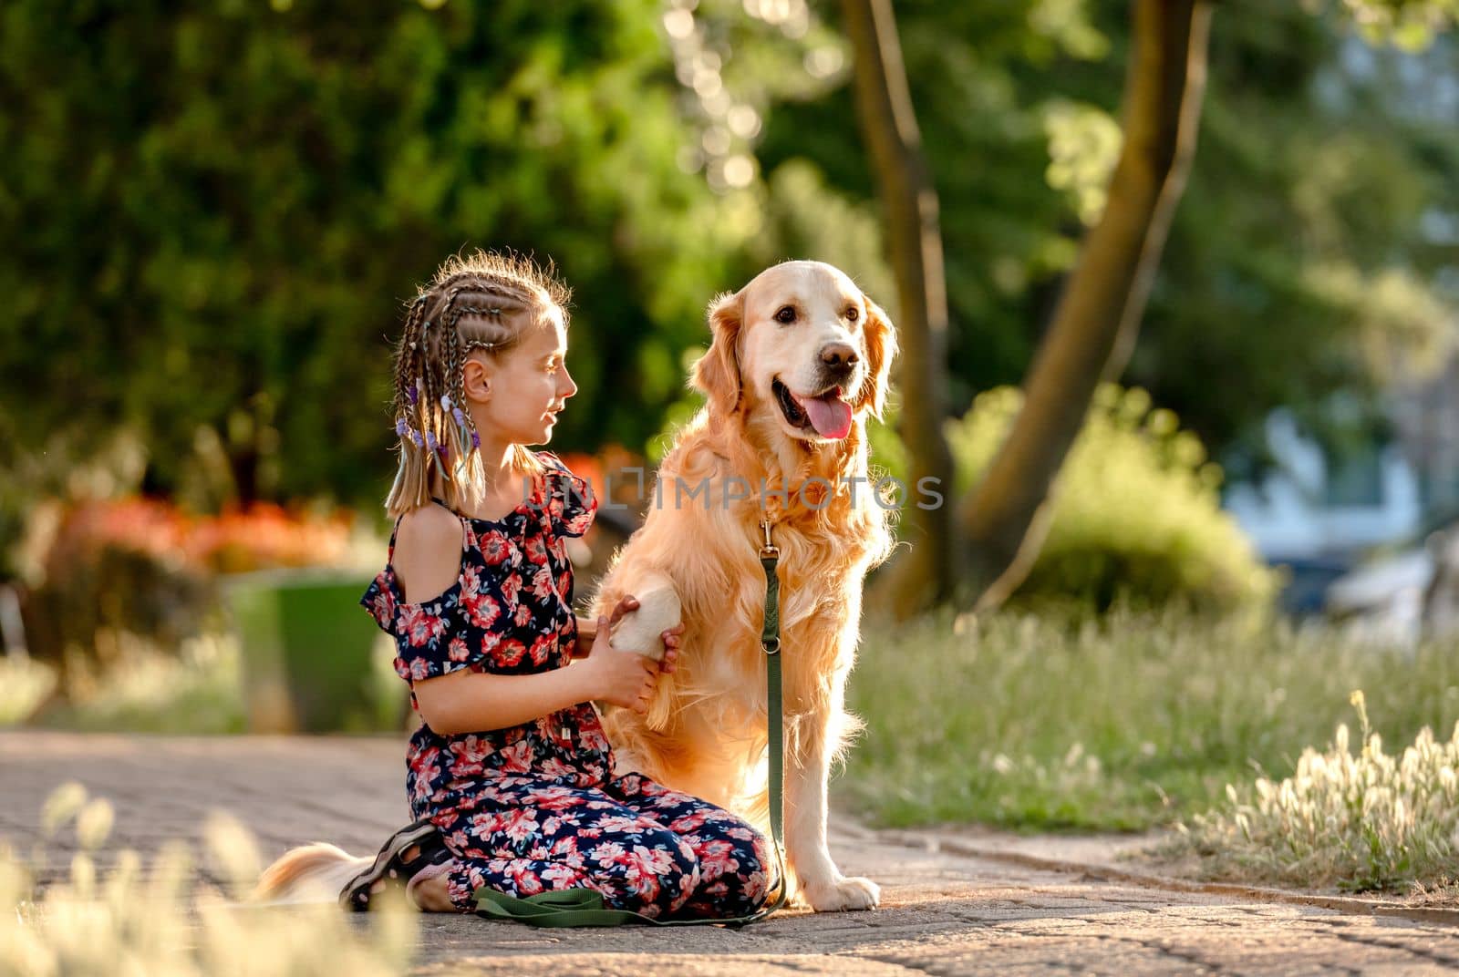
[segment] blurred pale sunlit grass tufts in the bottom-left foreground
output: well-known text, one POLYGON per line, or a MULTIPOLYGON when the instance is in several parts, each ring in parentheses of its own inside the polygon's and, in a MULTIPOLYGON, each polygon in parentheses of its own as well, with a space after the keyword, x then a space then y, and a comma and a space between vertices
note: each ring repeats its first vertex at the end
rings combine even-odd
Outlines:
POLYGON ((0 973, 76 977, 147 974, 166 977, 404 973, 416 942, 417 914, 404 901, 385 901, 357 932, 337 906, 268 908, 239 900, 258 876, 252 836, 226 815, 206 828, 209 865, 225 888, 190 884, 193 855, 165 847, 143 871, 131 850, 115 853, 101 872, 98 850, 111 830, 112 809, 69 783, 45 803, 47 838, 74 822, 82 852, 70 876, 36 891, 45 840, 29 859, 0 846, 0 973))

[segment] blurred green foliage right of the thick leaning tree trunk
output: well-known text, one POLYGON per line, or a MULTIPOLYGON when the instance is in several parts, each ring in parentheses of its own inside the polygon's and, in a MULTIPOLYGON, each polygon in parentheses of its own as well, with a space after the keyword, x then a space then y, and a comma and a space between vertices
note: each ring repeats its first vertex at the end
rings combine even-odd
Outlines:
POLYGON ((1423 90, 1452 38, 1399 55, 1299 9, 1240 13, 1215 20, 1202 141, 1126 376, 1250 456, 1275 404, 1339 437, 1335 391, 1371 400, 1441 362, 1453 241, 1431 222, 1459 210, 1459 136, 1423 90))

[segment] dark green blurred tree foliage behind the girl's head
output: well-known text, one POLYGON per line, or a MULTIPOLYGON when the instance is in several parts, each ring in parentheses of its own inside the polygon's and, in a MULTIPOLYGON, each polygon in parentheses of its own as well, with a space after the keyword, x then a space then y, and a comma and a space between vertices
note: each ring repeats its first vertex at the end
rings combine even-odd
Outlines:
POLYGON ((680 165, 659 12, 6 4, 0 462, 128 429, 204 503, 375 499, 401 302, 477 245, 576 287, 562 443, 642 442, 754 230, 680 165))

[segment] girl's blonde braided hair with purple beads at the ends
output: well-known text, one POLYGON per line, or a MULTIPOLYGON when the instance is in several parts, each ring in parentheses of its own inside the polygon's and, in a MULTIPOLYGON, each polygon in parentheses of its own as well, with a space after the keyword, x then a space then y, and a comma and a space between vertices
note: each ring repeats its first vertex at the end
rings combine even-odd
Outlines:
MULTIPOLYGON (((430 503, 430 472, 444 500, 470 509, 484 484, 481 440, 465 410, 463 367, 476 350, 499 357, 557 308, 568 322, 572 292, 549 261, 495 251, 452 255, 406 312, 395 347, 395 433, 400 467, 385 499, 394 518, 430 503)), ((538 477, 541 462, 512 445, 512 468, 538 477)))

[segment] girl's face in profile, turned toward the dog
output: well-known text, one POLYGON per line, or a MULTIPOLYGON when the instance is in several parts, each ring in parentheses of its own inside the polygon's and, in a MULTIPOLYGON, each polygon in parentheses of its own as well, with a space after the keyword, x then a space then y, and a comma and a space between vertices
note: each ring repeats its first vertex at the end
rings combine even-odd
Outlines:
MULTIPOLYGON (((481 437, 503 446, 552 440, 557 411, 578 392, 568 375, 566 356, 568 330, 562 311, 552 306, 515 349, 495 363, 483 359, 489 388, 486 397, 471 405, 481 437)), ((467 392, 470 395, 470 389, 467 392)))

